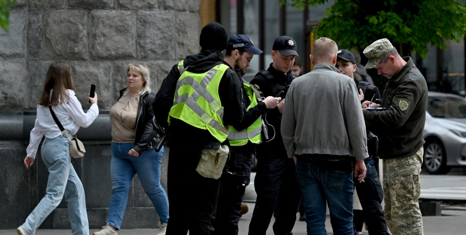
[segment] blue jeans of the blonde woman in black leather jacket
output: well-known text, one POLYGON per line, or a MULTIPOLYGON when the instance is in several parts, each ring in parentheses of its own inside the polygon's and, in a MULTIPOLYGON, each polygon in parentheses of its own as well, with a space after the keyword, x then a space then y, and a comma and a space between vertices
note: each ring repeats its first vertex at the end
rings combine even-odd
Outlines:
POLYGON ((117 229, 122 225, 131 181, 137 173, 142 187, 159 214, 160 222, 168 222, 168 198, 160 184, 160 164, 164 155, 153 150, 144 151, 139 157, 128 155, 133 144, 111 143, 111 198, 107 223, 117 229))

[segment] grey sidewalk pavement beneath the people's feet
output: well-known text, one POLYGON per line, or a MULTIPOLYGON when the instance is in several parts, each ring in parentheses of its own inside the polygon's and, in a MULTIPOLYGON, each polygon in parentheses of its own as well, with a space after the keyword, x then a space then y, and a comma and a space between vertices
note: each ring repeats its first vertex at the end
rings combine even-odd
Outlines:
MULTIPOLYGON (((249 222, 251 221, 252 211, 254 210, 254 203, 248 203, 249 212, 244 214, 240 220, 240 233, 239 235, 247 235, 249 229, 249 222)), ((455 209, 455 208, 452 208, 455 209)), ((464 223, 466 222, 466 210, 464 208, 456 208, 458 210, 443 209, 442 216, 424 216, 424 234, 425 235, 455 235, 465 234, 464 223)), ((299 217, 299 214, 297 214, 299 217)), ((272 218, 270 225, 267 230, 267 235, 273 235, 272 225, 275 219, 272 218)), ((326 228, 328 234, 333 234, 332 226, 330 225, 330 216, 327 216, 326 228)), ((99 229, 90 229, 92 232, 98 231, 99 229)), ((138 228, 138 229, 122 229, 118 231, 119 235, 139 235, 139 234, 157 234, 159 229, 150 228, 138 228)), ((15 235, 15 229, 0 230, 0 235, 15 235)), ((36 235, 62 235, 71 234, 71 229, 38 229, 36 235)), ((188 233, 189 234, 189 233, 188 233)), ((296 221, 293 228, 294 235, 306 234, 306 222, 296 221)), ((363 231, 364 235, 367 235, 367 231, 363 231)))

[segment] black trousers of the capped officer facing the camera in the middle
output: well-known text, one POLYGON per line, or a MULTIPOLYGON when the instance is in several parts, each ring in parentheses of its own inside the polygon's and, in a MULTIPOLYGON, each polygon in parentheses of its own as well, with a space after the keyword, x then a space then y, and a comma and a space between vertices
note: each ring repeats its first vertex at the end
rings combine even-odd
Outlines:
POLYGON ((274 213, 277 198, 284 200, 277 207, 274 223, 276 235, 292 234, 301 192, 296 180, 294 160, 273 154, 257 157, 257 172, 254 188, 256 205, 249 224, 249 235, 265 235, 274 213))

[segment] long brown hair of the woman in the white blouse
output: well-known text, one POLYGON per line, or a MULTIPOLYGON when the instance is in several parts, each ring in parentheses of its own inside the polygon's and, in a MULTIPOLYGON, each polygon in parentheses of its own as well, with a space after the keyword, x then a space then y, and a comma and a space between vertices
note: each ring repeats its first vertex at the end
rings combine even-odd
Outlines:
POLYGON ((42 97, 37 100, 37 104, 55 106, 64 102, 68 103, 69 94, 66 89, 74 90, 71 67, 65 62, 55 61, 49 66, 42 97), (52 97, 50 97, 51 89, 53 89, 52 97))

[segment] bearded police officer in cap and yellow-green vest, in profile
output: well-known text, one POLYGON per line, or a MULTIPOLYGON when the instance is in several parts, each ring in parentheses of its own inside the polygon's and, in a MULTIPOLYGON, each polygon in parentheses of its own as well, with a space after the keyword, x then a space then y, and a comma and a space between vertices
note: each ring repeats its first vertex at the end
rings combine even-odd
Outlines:
POLYGON ((249 185, 251 160, 256 153, 256 145, 261 142, 261 115, 267 108, 275 108, 281 100, 267 97, 262 101, 259 92, 255 92, 254 88, 241 78, 254 55, 261 53, 262 51, 256 48, 246 35, 236 34, 228 39, 223 63, 235 70, 243 83, 244 118, 238 125, 229 127, 231 154, 221 178, 214 234, 238 235, 238 214, 241 211, 246 186, 249 185))

